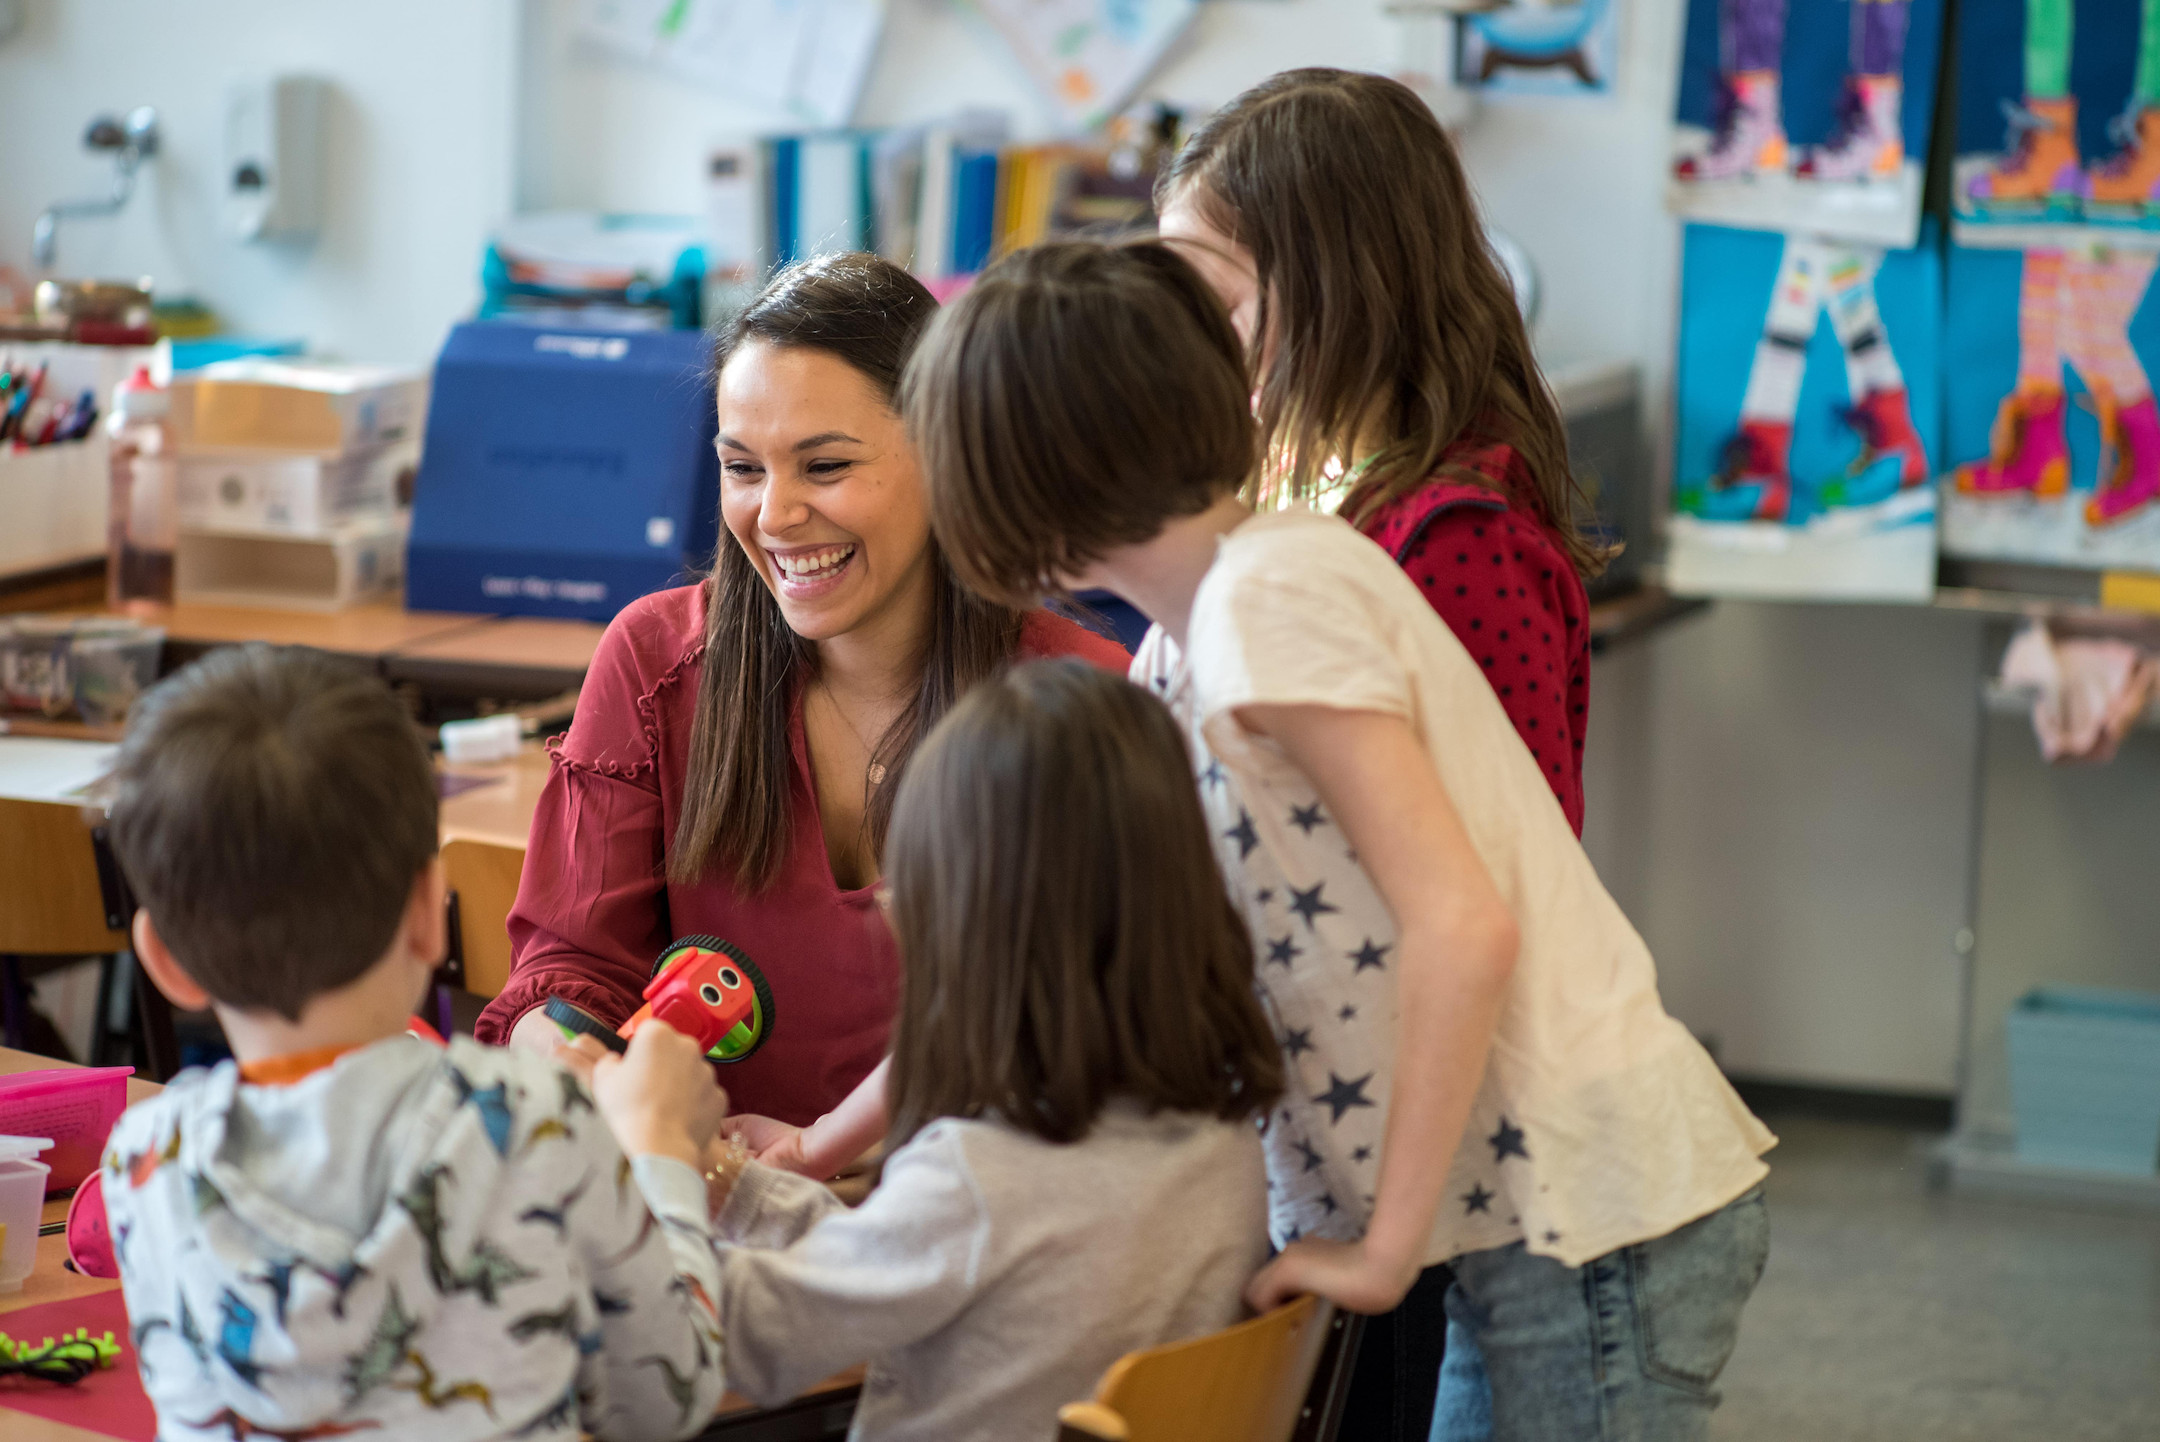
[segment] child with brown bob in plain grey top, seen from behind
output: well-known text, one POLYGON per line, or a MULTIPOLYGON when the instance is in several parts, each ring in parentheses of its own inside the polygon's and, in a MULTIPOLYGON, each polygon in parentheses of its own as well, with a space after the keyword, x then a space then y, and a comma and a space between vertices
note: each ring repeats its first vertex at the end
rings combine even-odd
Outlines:
MULTIPOLYGON (((1177 725, 1078 661, 978 682, 901 777, 892 1155, 847 1209, 713 1174, 728 1382, 870 1358, 851 1438, 1050 1438, 1125 1351, 1242 1317, 1281 1062, 1177 725)), ((626 1129, 637 1097, 605 1099, 626 1129)))

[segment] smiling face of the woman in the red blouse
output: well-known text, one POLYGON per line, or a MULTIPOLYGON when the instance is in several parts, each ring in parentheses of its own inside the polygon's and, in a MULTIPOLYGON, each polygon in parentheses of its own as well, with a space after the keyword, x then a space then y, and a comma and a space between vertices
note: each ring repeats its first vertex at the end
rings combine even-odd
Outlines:
POLYGON ((922 473, 862 371, 745 341, 717 391, 719 514, 795 635, 829 641, 929 585, 922 473))

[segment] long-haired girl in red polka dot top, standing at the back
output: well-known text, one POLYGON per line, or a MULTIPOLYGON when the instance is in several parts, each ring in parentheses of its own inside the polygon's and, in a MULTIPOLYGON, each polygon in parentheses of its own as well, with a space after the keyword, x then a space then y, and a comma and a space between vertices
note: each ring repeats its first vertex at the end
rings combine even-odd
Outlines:
POLYGON ((1601 553, 1447 134, 1391 80, 1285 71, 1192 136, 1156 209, 1253 356, 1259 499, 1341 496, 1484 665, 1581 835, 1601 553))

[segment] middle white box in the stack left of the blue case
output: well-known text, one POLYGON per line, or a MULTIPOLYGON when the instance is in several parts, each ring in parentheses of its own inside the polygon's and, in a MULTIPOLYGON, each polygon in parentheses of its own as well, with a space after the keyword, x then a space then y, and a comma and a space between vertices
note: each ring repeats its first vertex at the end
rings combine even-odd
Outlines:
POLYGON ((179 455, 179 525, 194 531, 328 535, 348 520, 397 509, 397 477, 419 447, 350 455, 203 451, 179 455))

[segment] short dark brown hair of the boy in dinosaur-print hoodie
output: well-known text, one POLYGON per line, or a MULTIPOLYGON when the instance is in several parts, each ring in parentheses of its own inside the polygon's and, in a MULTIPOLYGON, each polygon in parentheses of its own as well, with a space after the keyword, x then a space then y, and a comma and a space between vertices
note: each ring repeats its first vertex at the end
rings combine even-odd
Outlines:
POLYGON ((216 650, 127 719, 112 851, 194 982, 298 1021, 365 974, 436 851, 434 766, 378 678, 300 648, 216 650))

